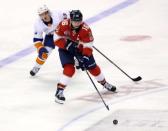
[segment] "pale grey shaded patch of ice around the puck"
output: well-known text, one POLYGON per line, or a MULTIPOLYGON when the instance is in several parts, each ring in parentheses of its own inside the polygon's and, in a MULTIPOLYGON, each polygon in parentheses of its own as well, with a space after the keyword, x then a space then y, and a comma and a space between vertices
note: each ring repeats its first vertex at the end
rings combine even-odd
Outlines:
POLYGON ((168 111, 118 110, 94 124, 86 131, 167 131, 168 111), (114 125, 113 120, 118 120, 114 125))

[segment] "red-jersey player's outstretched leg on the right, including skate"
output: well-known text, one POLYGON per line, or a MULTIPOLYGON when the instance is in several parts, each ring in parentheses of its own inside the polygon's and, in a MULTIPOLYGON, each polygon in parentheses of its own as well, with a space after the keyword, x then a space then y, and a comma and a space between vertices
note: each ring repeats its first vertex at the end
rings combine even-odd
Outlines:
POLYGON ((115 92, 116 87, 106 81, 100 67, 96 64, 93 56, 90 57, 89 63, 93 66, 89 66, 88 71, 95 77, 95 79, 107 90, 115 92))

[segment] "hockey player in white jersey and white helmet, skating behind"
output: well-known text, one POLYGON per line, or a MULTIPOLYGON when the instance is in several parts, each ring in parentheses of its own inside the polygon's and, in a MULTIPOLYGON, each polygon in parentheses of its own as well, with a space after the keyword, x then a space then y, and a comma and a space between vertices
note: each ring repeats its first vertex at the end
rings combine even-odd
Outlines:
POLYGON ((30 71, 30 75, 34 76, 40 70, 41 66, 47 60, 49 54, 55 48, 53 34, 56 26, 60 21, 67 18, 67 11, 51 12, 46 5, 38 9, 39 18, 34 25, 34 46, 37 48, 38 56, 35 66, 30 71))

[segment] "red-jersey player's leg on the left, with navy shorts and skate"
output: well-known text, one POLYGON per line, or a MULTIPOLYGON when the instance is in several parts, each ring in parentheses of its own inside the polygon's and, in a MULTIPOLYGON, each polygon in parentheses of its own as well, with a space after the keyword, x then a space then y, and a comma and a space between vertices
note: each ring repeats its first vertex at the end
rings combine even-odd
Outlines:
POLYGON ((74 67, 74 56, 70 54, 68 51, 59 49, 59 57, 63 67, 63 73, 60 77, 59 83, 57 84, 57 90, 55 93, 55 101, 63 104, 65 101, 64 89, 68 85, 72 76, 75 73, 74 67))

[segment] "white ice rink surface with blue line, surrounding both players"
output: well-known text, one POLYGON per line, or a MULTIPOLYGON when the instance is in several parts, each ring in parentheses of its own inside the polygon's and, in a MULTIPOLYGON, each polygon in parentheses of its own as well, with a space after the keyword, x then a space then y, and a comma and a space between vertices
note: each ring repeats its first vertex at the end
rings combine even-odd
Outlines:
POLYGON ((0 21, 0 131, 168 131, 167 0, 1 0, 0 21), (43 4, 80 9, 94 46, 131 77, 143 78, 131 81, 94 50, 118 89, 110 93, 94 80, 109 111, 79 70, 65 90, 66 103, 54 102, 62 74, 57 48, 37 76, 30 76, 37 56, 33 23, 43 4))

